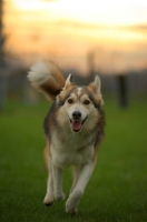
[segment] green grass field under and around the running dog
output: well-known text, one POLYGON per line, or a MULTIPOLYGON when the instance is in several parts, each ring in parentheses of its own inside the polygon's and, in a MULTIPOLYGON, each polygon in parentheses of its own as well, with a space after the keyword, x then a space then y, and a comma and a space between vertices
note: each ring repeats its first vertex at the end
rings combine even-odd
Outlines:
MULTIPOLYGON (((76 216, 65 213, 65 201, 42 204, 48 107, 9 102, 0 114, 0 222, 146 222, 147 102, 120 110, 106 99, 106 139, 76 216)), ((63 179, 67 196, 70 169, 63 179)))

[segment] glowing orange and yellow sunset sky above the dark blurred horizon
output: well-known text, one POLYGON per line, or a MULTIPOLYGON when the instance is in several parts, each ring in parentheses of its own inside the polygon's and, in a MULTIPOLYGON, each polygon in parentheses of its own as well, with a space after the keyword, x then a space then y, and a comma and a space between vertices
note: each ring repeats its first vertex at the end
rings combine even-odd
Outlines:
POLYGON ((147 0, 7 0, 4 31, 8 49, 30 62, 84 68, 95 53, 104 70, 147 65, 147 0))

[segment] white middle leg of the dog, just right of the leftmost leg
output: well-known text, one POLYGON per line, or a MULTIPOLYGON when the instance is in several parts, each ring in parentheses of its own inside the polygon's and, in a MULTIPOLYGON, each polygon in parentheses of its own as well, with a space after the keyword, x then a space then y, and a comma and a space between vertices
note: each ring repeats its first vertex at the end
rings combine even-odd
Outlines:
POLYGON ((53 173, 53 193, 57 201, 65 200, 62 192, 62 170, 56 165, 52 165, 53 173))

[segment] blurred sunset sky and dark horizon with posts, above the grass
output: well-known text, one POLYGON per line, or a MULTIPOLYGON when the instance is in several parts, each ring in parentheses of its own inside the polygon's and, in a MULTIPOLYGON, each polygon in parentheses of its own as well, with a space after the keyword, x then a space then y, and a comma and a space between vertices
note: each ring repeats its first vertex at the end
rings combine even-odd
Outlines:
POLYGON ((51 59, 78 84, 98 73, 102 92, 127 108, 147 95, 146 0, 0 0, 0 109, 38 101, 29 67, 51 59))

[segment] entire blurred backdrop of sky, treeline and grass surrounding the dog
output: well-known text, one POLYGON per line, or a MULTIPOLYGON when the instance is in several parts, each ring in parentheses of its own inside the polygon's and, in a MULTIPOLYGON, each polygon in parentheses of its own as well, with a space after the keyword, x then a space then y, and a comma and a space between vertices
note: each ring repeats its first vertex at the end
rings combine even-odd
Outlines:
POLYGON ((27 80, 41 59, 77 84, 101 79, 106 139, 71 221, 146 222, 147 0, 0 0, 0 221, 70 221, 41 204, 50 103, 27 80))

